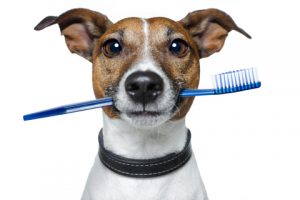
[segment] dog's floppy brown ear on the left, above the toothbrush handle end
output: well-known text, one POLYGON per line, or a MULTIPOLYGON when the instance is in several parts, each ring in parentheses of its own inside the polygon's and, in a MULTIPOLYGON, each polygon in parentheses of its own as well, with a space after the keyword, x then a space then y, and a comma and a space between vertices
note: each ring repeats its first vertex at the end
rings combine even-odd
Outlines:
POLYGON ((98 39, 112 25, 103 14, 88 9, 72 9, 58 17, 48 16, 34 29, 39 31, 58 24, 71 53, 92 61, 92 53, 98 39))

